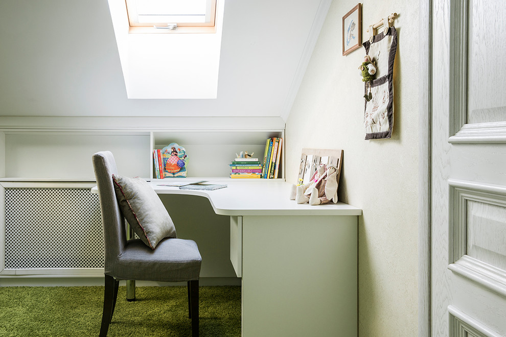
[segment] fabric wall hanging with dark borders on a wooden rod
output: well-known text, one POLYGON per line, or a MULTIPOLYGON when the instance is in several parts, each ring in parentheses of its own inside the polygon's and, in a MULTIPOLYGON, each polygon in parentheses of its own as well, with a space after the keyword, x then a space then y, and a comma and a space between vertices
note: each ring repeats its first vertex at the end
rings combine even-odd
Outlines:
MULTIPOLYGON (((396 13, 394 14, 397 15, 396 13)), ((367 32, 370 34, 370 39, 362 43, 366 58, 369 56, 373 65, 376 66, 375 79, 364 81, 365 139, 392 137, 394 126, 394 60, 397 52, 397 30, 395 27, 389 27, 390 17, 382 19, 381 23, 369 26, 367 32), (381 33, 374 35, 374 29, 378 26, 384 27, 381 33)))

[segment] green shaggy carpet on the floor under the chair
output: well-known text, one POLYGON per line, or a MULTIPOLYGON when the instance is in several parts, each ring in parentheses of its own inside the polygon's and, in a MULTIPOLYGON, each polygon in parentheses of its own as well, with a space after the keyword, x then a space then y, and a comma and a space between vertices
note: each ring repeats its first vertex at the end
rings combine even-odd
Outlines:
MULTIPOLYGON (((185 286, 120 286, 109 337, 190 336, 185 286)), ((98 336, 103 286, 0 287, 0 336, 98 336)), ((199 287, 201 336, 241 335, 241 287, 199 287)))

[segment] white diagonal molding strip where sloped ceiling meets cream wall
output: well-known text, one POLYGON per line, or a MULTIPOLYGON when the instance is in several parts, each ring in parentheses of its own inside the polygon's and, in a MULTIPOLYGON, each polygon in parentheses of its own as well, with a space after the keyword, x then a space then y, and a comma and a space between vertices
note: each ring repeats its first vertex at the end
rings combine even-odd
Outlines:
POLYGON ((288 116, 290 115, 293 102, 295 101, 295 97, 297 96, 298 88, 301 87, 302 80, 304 78, 304 75, 306 74, 306 69, 309 64, 309 60, 311 59, 311 55, 313 55, 313 50, 316 45, 316 41, 318 41, 321 27, 323 27, 324 25, 325 18, 327 17, 327 13, 329 12, 331 4, 332 0, 321 0, 318 6, 318 10, 316 11, 316 15, 313 20, 313 25, 311 26, 308 39, 306 40, 306 44, 304 46, 304 51, 302 52, 301 59, 298 62, 298 66, 297 69, 295 70, 295 75, 293 77, 292 84, 290 85, 290 89, 288 90, 288 94, 281 111, 281 118, 285 122, 287 121, 288 116))

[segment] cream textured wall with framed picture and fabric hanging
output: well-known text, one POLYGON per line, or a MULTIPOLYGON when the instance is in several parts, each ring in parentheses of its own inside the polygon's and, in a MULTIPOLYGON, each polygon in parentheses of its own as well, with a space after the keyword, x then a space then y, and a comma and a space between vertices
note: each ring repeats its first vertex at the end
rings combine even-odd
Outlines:
MULTIPOLYGON (((341 201, 359 218, 359 335, 418 333, 418 0, 365 1, 362 35, 382 16, 395 21, 394 131, 364 140, 363 47, 342 56, 342 16, 356 1, 334 1, 286 123, 286 178, 295 182, 302 148, 343 149, 341 201)), ((365 38, 362 38, 365 40, 365 38)), ((315 206, 318 207, 318 206, 315 206)))

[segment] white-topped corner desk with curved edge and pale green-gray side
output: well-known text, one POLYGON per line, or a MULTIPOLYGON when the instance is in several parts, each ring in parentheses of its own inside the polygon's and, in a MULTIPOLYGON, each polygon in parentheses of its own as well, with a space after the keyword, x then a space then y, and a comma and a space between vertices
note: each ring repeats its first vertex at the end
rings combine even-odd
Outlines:
POLYGON ((283 180, 185 178, 153 180, 157 194, 205 197, 230 216, 230 259, 242 278, 243 336, 358 334, 358 216, 343 204, 289 200, 283 180), (208 180, 217 190, 160 186, 208 180))

